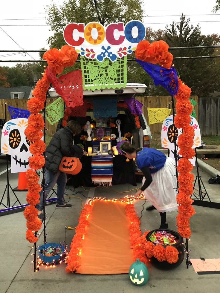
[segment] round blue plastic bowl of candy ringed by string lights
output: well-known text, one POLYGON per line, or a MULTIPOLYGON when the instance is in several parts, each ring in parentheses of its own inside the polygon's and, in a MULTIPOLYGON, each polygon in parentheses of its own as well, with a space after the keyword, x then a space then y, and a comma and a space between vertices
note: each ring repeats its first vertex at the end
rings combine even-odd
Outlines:
POLYGON ((65 248, 57 243, 45 243, 38 246, 38 253, 40 259, 44 263, 54 263, 59 260, 65 248))

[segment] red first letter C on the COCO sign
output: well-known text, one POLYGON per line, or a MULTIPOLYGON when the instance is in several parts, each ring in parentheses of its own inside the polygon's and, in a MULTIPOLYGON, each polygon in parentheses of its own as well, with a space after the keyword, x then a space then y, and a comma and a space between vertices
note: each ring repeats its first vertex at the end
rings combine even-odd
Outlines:
POLYGON ((64 31, 63 31, 63 37, 65 39, 65 41, 67 42, 67 44, 69 44, 70 46, 80 46, 82 45, 82 43, 84 42, 84 38, 79 37, 78 41, 74 40, 73 38, 73 31, 74 30, 78 30, 79 33, 83 33, 84 31, 84 24, 83 23, 69 23, 64 31))

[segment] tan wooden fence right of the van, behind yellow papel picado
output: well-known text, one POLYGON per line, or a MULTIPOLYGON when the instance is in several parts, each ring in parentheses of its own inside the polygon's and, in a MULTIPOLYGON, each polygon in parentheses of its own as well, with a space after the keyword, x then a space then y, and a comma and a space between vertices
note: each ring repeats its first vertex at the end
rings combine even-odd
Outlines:
MULTIPOLYGON (((136 99, 143 104, 142 111, 150 127, 151 134, 161 133, 162 123, 149 124, 147 108, 172 108, 171 96, 147 96, 136 97, 136 99)), ((192 96, 192 99, 198 104, 198 96, 192 96)), ((176 99, 174 99, 174 104, 176 104, 176 99)), ((198 120, 198 105, 194 108, 197 116, 196 119, 198 120)), ((172 115, 172 110, 170 115, 172 115)))

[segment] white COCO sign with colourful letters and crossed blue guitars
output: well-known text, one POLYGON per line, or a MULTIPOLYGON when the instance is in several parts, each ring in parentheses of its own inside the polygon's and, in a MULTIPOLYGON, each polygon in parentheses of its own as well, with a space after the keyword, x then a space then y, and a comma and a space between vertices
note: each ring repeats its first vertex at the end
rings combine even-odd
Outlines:
POLYGON ((98 22, 69 23, 63 31, 65 42, 75 47, 77 53, 86 58, 104 58, 115 61, 136 50, 137 44, 145 38, 146 29, 142 22, 131 20, 111 23, 104 27, 98 22))

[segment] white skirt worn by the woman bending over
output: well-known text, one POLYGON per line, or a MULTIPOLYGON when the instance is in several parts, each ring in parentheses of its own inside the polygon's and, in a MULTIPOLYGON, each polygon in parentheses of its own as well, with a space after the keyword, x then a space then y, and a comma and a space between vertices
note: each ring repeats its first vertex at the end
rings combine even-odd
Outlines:
MULTIPOLYGON (((144 196, 160 212, 168 212, 177 209, 177 181, 175 161, 167 157, 163 168, 151 174, 153 181, 144 190, 144 196)), ((143 183, 145 177, 143 177, 143 183)))

